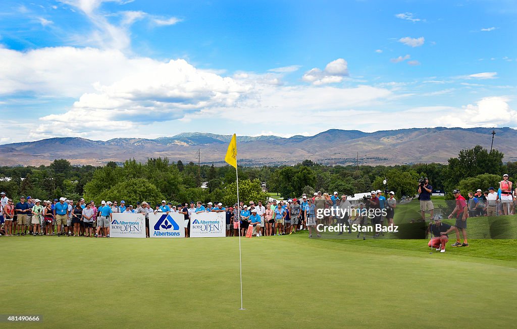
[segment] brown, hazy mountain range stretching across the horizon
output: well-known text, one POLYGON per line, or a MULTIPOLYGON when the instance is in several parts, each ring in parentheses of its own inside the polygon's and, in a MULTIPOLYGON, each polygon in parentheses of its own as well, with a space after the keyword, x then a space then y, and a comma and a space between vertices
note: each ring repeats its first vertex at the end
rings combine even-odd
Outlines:
MULTIPOLYGON (((328 165, 394 165, 446 163, 465 148, 481 145, 505 153, 505 162, 517 161, 517 130, 511 128, 413 128, 366 133, 331 129, 314 136, 237 136, 241 165, 291 165, 309 159, 328 165)), ((115 138, 107 141, 56 137, 36 142, 0 145, 0 165, 39 166, 55 159, 75 165, 104 165, 127 159, 146 161, 167 156, 171 161, 224 165, 231 135, 181 133, 172 137, 115 138)))

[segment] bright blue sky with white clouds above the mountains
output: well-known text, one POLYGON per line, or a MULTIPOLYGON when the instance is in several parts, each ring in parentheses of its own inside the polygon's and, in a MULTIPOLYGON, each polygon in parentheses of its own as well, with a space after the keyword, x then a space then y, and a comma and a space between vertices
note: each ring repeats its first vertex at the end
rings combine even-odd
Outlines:
POLYGON ((517 127, 514 1, 3 1, 0 143, 517 127))

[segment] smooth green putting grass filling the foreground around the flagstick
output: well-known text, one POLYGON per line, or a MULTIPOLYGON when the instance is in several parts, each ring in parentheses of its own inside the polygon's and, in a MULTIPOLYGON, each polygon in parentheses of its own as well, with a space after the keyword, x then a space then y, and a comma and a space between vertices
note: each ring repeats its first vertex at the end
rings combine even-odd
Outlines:
POLYGON ((3 327, 513 327, 517 243, 0 238, 3 327), (439 316, 436 316, 439 315, 439 316), (439 323, 437 322, 439 321, 439 323))

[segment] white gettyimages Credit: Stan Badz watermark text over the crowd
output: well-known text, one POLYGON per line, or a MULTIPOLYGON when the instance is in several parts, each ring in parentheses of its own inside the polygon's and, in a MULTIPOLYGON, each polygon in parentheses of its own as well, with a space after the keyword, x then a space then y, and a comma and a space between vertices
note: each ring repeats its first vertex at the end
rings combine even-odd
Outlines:
POLYGON ((380 224, 381 217, 386 217, 386 209, 367 209, 367 208, 327 208, 317 209, 316 219, 323 220, 325 217, 339 218, 343 220, 347 217, 348 223, 338 223, 333 226, 325 226, 324 224, 316 225, 318 232, 394 232, 399 231, 399 227, 396 225, 383 226, 380 224), (367 226, 367 222, 370 220, 372 226, 367 226), (378 223, 375 223, 378 221, 378 223))

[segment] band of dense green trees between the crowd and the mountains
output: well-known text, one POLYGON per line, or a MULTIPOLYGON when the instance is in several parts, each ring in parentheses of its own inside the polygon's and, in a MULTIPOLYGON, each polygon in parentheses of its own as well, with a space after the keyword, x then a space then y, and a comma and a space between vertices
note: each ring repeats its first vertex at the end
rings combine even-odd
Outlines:
MULTIPOLYGON (((517 162, 503 163, 504 154, 489 152, 481 146, 461 150, 457 158, 447 164, 417 163, 396 166, 325 166, 305 160, 294 166, 239 167, 240 200, 267 199, 262 191, 297 197, 315 191, 354 195, 370 190, 394 191, 398 198, 414 195, 419 177, 428 177, 435 190, 447 197, 459 188, 464 192, 497 188, 503 174, 517 177, 517 162), (387 180, 387 185, 383 181, 387 180)), ((216 167, 190 162, 170 161, 168 158, 148 159, 145 163, 127 160, 122 165, 110 162, 103 167, 72 166, 59 159, 49 166, 0 167, 0 190, 8 196, 31 195, 33 198, 52 199, 67 196, 73 200, 120 200, 127 204, 136 201, 160 203, 162 199, 185 201, 236 202, 236 175, 231 166, 216 167), (206 188, 201 188, 203 182, 206 188), (129 203, 128 203, 129 202, 129 203)))

